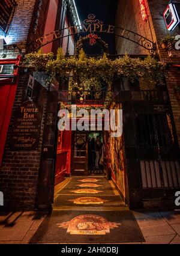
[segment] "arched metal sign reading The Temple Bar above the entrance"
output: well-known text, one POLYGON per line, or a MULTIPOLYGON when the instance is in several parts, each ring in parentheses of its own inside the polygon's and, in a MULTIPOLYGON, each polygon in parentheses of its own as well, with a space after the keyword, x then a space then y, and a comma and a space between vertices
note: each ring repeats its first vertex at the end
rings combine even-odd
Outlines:
MULTIPOLYGON (((89 14, 88 19, 85 19, 81 25, 59 29, 51 32, 50 34, 43 35, 43 37, 40 37, 35 41, 32 41, 28 44, 27 51, 35 52, 46 44, 52 43, 53 41, 62 40, 65 37, 81 34, 88 34, 86 39, 89 38, 90 44, 94 44, 94 41, 97 41, 98 43, 98 34, 102 33, 113 34, 115 37, 125 38, 126 40, 131 41, 140 47, 143 47, 143 49, 146 49, 149 54, 156 55, 156 44, 153 41, 128 29, 113 25, 106 25, 103 23, 103 21, 95 19, 94 14, 89 14), (64 31, 67 30, 68 34, 64 35, 64 31)), ((101 44, 101 46, 104 47, 104 50, 106 50, 105 44, 106 43, 104 43, 104 45, 101 44)))

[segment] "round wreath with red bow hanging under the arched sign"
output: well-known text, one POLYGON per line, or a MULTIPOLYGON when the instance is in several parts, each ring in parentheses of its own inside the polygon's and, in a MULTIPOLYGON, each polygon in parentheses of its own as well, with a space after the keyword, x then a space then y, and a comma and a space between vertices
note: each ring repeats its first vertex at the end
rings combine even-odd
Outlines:
POLYGON ((76 50, 75 50, 75 56, 79 56, 80 50, 83 48, 83 44, 89 41, 90 45, 98 44, 101 49, 102 53, 108 53, 108 44, 106 44, 105 41, 101 39, 101 37, 98 37, 96 34, 89 34, 85 37, 80 37, 79 40, 76 43, 76 50))

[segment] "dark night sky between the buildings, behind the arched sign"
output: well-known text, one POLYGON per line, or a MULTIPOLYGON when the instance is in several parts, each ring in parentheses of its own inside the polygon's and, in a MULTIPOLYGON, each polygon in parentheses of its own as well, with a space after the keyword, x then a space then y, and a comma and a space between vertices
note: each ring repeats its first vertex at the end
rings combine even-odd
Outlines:
MULTIPOLYGON (((80 22, 88 18, 88 14, 94 14, 96 19, 102 20, 104 24, 114 25, 116 15, 117 0, 75 0, 80 22)), ((114 35, 98 34, 109 44, 109 53, 114 51, 114 35)), ((86 53, 98 53, 98 47, 87 46, 86 53)))

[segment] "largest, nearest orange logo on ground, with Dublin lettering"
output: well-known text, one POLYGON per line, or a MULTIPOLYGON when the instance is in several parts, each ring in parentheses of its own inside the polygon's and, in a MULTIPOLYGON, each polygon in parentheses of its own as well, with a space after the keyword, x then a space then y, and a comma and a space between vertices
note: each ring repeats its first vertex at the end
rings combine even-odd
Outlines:
POLYGON ((118 228, 121 224, 109 222, 99 215, 80 215, 71 221, 56 225, 59 228, 67 228, 68 234, 97 236, 109 234, 110 229, 118 228))

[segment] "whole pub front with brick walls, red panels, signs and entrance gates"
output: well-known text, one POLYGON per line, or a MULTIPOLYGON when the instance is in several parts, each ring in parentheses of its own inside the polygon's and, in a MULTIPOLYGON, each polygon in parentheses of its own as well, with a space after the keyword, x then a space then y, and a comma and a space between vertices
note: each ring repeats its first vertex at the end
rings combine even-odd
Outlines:
POLYGON ((73 175, 104 175, 131 209, 172 207, 180 187, 180 1, 118 1, 109 25, 94 14, 80 21, 76 1, 8 2, 0 5, 9 13, 0 32, 4 209, 49 209, 54 187, 73 175), (102 34, 113 37, 111 54, 102 34), (122 74, 111 76, 104 63, 122 74), (153 63, 164 67, 161 78, 153 63), (154 72, 154 81, 137 76, 140 65, 154 72), (96 123, 92 130, 58 130, 59 111, 74 105, 88 112, 121 109, 122 135, 115 138, 96 123))

